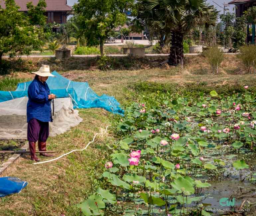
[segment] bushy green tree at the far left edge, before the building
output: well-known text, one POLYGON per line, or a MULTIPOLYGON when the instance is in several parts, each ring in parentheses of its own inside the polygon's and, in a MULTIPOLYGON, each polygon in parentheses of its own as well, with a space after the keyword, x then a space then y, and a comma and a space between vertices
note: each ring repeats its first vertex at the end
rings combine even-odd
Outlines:
MULTIPOLYGON (((44 43, 43 29, 31 24, 33 22, 29 16, 18 11, 19 7, 14 0, 6 0, 5 5, 5 9, 0 8, 0 64, 4 53, 10 57, 29 54, 32 49, 39 49, 44 43)), ((38 20, 42 21, 41 18, 38 20)))

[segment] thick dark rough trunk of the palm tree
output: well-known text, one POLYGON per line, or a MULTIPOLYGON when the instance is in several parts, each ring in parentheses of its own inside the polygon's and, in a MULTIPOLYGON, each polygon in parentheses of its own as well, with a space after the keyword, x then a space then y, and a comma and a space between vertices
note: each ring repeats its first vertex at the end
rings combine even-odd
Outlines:
POLYGON ((169 56, 169 64, 170 65, 179 65, 183 61, 184 53, 183 53, 183 34, 180 32, 172 32, 171 39, 171 47, 170 47, 170 56, 169 56))

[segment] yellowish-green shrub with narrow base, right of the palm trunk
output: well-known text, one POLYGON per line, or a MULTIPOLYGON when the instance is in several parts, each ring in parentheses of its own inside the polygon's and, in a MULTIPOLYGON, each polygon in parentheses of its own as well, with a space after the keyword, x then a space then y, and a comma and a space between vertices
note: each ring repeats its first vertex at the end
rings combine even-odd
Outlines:
POLYGON ((224 59, 222 51, 218 47, 210 47, 208 50, 204 51, 204 56, 211 65, 213 74, 218 74, 219 66, 224 59))

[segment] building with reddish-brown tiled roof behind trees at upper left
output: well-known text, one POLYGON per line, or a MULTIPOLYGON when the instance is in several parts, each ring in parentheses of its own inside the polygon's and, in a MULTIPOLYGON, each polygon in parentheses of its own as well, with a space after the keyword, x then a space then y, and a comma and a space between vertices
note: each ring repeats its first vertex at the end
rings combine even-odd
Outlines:
MULTIPOLYGON (((27 12, 27 3, 32 2, 36 6, 39 0, 15 0, 16 4, 20 7, 19 11, 27 12)), ((63 24, 67 21, 67 16, 72 13, 72 8, 67 5, 66 0, 45 0, 46 16, 48 23, 59 23, 63 24)), ((0 6, 5 8, 5 1, 0 0, 0 6)))

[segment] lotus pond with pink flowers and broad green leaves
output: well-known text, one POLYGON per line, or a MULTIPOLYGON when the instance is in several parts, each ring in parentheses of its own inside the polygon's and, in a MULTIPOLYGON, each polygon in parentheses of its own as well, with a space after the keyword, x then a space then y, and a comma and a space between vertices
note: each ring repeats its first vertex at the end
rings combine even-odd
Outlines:
POLYGON ((118 142, 107 146, 105 187, 77 207, 84 215, 252 215, 255 96, 245 86, 127 106, 112 128, 118 142))

